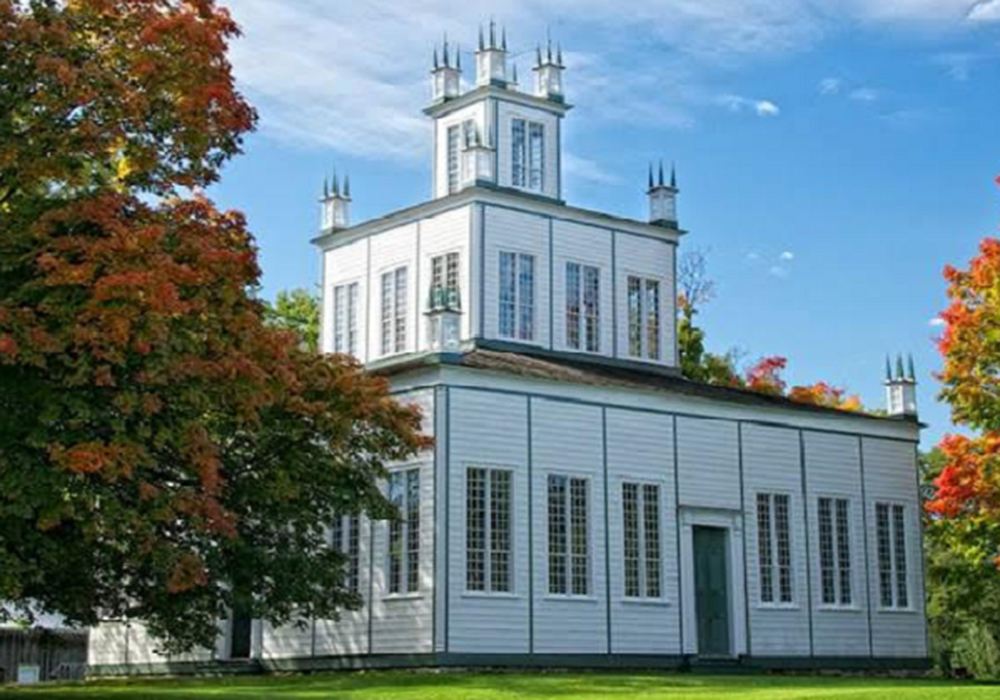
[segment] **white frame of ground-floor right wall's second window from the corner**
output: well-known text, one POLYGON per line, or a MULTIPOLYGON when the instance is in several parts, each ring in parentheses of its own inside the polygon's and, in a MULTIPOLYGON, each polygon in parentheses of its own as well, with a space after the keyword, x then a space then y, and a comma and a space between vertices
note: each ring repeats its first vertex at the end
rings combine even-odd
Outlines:
POLYGON ((591 476, 586 474, 574 474, 569 472, 548 472, 545 476, 545 513, 546 513, 546 597, 556 600, 593 600, 595 598, 594 594, 594 527, 593 527, 593 508, 594 508, 594 496, 592 488, 593 479, 591 476), (552 483, 555 479, 562 479, 565 481, 565 491, 563 493, 563 514, 565 522, 563 524, 565 530, 565 546, 562 555, 565 558, 562 568, 563 582, 565 586, 565 592, 553 591, 553 579, 552 579, 552 483), (583 593, 574 592, 574 579, 573 579, 573 569, 574 569, 574 557, 579 558, 579 555, 574 554, 574 534, 573 534, 573 484, 584 484, 585 494, 587 501, 584 504, 584 524, 586 526, 586 551, 584 557, 586 558, 586 590, 583 593))

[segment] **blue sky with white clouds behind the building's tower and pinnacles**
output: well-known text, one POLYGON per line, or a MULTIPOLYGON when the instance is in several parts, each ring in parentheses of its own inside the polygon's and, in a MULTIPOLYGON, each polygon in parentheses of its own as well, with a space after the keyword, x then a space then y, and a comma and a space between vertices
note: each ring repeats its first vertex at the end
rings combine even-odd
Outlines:
POLYGON ((871 406, 885 354, 913 352, 925 443, 949 429, 931 321, 942 267, 996 231, 1000 0, 228 4, 261 123, 212 194, 247 213, 265 296, 315 285, 334 165, 356 221, 429 196, 431 50, 493 14, 523 82, 547 31, 563 45, 570 203, 642 218, 646 164, 677 162, 682 250, 708 251, 716 282, 711 349, 784 355, 790 383, 871 406))

